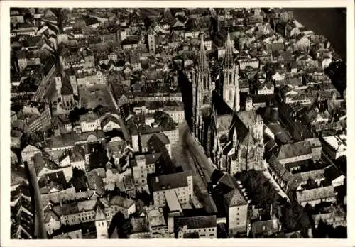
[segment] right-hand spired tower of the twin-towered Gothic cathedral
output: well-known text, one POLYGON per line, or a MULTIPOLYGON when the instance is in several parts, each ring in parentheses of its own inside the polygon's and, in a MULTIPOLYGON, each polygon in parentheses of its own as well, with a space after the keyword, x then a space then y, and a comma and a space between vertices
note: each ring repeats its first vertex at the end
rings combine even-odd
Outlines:
POLYGON ((226 104, 239 111, 239 75, 238 67, 234 64, 233 60, 233 45, 231 37, 228 33, 226 38, 226 55, 223 64, 223 93, 222 97, 226 104))

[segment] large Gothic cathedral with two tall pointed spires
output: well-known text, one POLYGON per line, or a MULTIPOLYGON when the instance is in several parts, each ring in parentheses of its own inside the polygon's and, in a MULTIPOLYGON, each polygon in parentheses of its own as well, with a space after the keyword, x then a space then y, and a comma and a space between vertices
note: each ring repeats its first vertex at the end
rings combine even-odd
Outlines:
POLYGON ((263 170, 263 119, 246 97, 241 111, 239 65, 228 33, 225 54, 217 82, 212 81, 210 61, 201 35, 192 84, 192 133, 219 170, 234 174, 263 170), (218 83, 218 84, 216 84, 218 83))

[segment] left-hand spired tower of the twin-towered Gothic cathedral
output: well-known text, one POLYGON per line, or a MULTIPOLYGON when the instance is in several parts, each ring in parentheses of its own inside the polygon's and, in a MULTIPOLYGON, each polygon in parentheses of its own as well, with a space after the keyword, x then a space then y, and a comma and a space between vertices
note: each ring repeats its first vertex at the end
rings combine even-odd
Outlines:
POLYGON ((201 35, 199 62, 195 75, 195 84, 192 84, 192 88, 195 88, 195 95, 193 95, 193 97, 195 97, 195 104, 193 106, 195 133, 200 141, 202 141, 202 131, 204 129, 203 119, 205 116, 209 116, 211 114, 212 91, 214 90, 211 82, 211 75, 209 73, 206 50, 204 49, 203 35, 201 35))

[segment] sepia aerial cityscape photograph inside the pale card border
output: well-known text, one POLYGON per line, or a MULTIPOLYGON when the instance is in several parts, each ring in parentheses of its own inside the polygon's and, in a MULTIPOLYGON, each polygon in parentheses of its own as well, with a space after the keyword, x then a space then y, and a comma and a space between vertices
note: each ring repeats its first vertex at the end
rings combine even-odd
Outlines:
POLYGON ((11 8, 9 238, 348 238, 346 15, 11 8))

